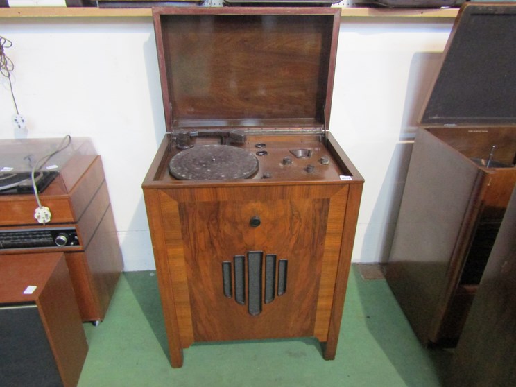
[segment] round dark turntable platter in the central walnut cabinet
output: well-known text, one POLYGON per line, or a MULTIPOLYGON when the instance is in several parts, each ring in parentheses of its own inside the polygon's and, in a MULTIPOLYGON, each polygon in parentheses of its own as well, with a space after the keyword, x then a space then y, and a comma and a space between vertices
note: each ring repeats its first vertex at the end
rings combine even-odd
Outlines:
POLYGON ((172 157, 170 174, 179 180, 247 179, 258 171, 255 155, 230 145, 203 145, 172 157))

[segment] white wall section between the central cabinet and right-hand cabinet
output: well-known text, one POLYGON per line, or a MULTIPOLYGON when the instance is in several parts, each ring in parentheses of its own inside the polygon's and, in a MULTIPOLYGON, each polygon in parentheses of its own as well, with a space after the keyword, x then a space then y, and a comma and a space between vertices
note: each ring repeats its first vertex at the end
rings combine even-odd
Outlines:
POLYGON ((452 19, 343 19, 330 130, 365 178, 353 261, 385 262, 452 19))

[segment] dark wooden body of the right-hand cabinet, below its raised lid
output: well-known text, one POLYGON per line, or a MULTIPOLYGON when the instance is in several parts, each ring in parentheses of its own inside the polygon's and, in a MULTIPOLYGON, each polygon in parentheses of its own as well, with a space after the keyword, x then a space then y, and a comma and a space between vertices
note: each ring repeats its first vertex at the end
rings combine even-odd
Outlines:
POLYGON ((429 128, 415 138, 386 278, 425 345, 456 343, 479 282, 466 274, 481 275, 516 184, 515 167, 485 168, 470 157, 503 144, 507 161, 515 134, 429 128))

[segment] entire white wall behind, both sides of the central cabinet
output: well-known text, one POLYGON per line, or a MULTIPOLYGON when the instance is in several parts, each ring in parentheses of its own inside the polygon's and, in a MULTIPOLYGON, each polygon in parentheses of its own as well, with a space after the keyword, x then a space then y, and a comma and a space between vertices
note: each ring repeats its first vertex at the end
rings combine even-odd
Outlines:
MULTIPOLYGON (((330 130, 365 178, 353 260, 386 261, 415 131, 451 19, 343 18, 330 130)), ((26 132, 0 76, 0 138, 91 137, 125 270, 154 261, 141 182, 164 136, 153 26, 141 18, 0 19, 26 132)))

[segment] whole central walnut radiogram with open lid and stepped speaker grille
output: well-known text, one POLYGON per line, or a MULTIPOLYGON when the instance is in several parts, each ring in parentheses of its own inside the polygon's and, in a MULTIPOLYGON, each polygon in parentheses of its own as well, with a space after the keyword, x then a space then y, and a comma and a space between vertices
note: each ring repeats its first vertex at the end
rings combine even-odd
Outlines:
POLYGON ((155 9, 167 135, 143 184, 173 367, 199 341, 334 359, 363 178, 327 132, 340 12, 155 9))

